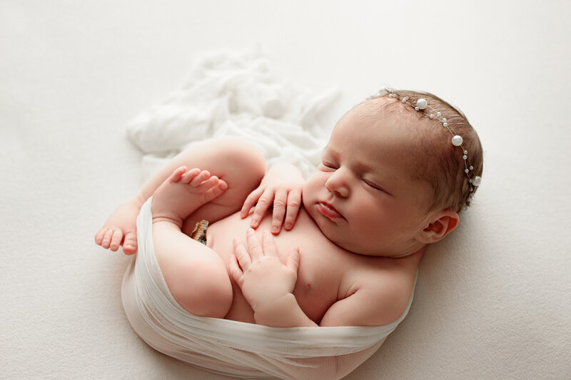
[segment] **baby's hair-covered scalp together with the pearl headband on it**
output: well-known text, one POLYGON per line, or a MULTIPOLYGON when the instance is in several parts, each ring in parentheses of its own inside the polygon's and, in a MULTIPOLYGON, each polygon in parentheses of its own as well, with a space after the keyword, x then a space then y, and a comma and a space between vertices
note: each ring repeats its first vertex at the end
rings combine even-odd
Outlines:
POLYGON ((431 93, 391 89, 370 96, 360 106, 368 108, 373 118, 393 117, 414 130, 410 168, 433 193, 426 212, 460 212, 470 205, 481 181, 482 145, 461 111, 431 93))

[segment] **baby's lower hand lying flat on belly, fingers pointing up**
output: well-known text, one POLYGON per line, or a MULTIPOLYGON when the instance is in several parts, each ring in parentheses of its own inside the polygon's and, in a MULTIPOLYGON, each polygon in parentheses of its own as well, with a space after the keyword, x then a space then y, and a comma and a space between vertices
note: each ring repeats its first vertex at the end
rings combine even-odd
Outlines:
POLYGON ((234 239, 236 255, 230 257, 230 273, 256 312, 259 306, 271 305, 293 292, 298 280, 300 255, 299 248, 294 248, 283 265, 272 235, 264 232, 262 244, 252 229, 248 229, 247 237, 249 250, 240 240, 234 239))

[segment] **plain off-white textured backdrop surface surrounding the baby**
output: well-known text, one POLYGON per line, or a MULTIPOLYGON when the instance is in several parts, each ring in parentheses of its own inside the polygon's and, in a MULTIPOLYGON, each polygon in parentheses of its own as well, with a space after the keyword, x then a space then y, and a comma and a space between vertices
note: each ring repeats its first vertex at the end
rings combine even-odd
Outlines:
POLYGON ((0 378, 218 379, 129 326, 94 232, 141 184, 124 126, 193 58, 259 42, 281 78, 459 106, 485 151, 405 322, 347 379, 571 374, 568 1, 0 2, 0 378))

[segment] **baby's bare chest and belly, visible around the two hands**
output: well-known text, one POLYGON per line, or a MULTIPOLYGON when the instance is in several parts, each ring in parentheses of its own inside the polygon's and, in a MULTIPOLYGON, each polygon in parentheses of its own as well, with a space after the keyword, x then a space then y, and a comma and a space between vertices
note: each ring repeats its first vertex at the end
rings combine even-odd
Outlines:
MULTIPOLYGON (((246 231, 250 220, 251 217, 241 219, 239 212, 236 212, 208 227, 206 234, 208 247, 220 255, 226 265, 226 270, 228 270, 228 259, 234 253, 233 237, 238 237, 248 247, 246 231)), ((271 214, 268 212, 257 228, 256 234, 261 238, 262 232, 270 230, 270 227, 271 214)), ((282 262, 285 262, 288 252, 293 247, 300 248, 298 281, 293 294, 305 315, 313 322, 319 323, 330 305, 338 299, 344 266, 343 257, 347 253, 323 236, 303 208, 299 212, 293 229, 290 231, 282 229, 279 235, 274 236, 274 240, 282 262)), ((228 276, 231 278, 233 287, 233 303, 226 319, 254 323, 250 305, 229 273, 228 276)))

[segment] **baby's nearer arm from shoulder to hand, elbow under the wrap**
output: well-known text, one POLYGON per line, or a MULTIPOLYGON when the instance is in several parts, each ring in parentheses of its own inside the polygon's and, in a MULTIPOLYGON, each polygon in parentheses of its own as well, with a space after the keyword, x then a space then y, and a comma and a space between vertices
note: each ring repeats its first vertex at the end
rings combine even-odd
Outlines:
POLYGON ((270 234, 260 242, 253 230, 248 234, 249 250, 235 240, 236 256, 230 259, 230 272, 254 311, 256 324, 271 327, 382 326, 400 317, 408 302, 405 277, 395 275, 386 282, 377 277, 363 279, 351 287, 351 294, 338 300, 316 324, 300 308, 293 295, 300 255, 293 250, 281 263, 270 234), (238 267, 239 265, 239 267, 238 267))

